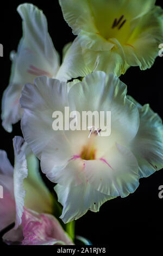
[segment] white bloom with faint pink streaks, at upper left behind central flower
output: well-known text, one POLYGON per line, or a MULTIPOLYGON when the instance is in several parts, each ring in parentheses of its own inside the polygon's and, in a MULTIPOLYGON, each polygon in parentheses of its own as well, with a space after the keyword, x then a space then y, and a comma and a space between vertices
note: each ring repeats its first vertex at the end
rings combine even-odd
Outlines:
MULTIPOLYGON (((23 20, 23 37, 17 53, 11 53, 11 78, 2 99, 2 124, 8 132, 12 131, 12 124, 21 119, 22 109, 19 99, 24 84, 33 83, 34 78, 41 75, 57 77, 61 81, 66 81, 75 75, 73 70, 69 69, 69 65, 72 65, 71 58, 74 59, 72 48, 76 50, 75 42, 68 56, 70 44, 64 47, 65 62, 60 65, 59 55, 48 34, 47 20, 42 11, 32 4, 21 4, 17 11, 23 20)), ((80 59, 76 63, 79 70, 80 63, 82 67, 84 65, 80 59)), ((84 73, 80 75, 84 76, 84 73)))

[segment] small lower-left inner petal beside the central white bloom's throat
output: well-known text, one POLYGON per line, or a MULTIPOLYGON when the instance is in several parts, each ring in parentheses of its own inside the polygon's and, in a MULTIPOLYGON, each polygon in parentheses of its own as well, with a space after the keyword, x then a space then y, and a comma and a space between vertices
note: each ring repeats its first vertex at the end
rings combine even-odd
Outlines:
POLYGON ((66 137, 57 136, 48 144, 41 155, 41 169, 47 178, 64 186, 77 186, 83 180, 84 162, 73 160, 71 144, 66 143, 66 137), (71 160, 72 159, 72 160, 71 160))

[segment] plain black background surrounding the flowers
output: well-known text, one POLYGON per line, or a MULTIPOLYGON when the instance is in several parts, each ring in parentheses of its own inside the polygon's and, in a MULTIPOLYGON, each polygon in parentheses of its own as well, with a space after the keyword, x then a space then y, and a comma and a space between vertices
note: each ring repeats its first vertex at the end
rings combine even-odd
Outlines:
MULTIPOLYGON (((62 47, 67 42, 73 41, 74 35, 62 17, 58 0, 31 2, 46 15, 49 34, 55 48, 61 53, 62 47)), ((161 2, 156 1, 156 4, 162 5, 163 8, 161 2)), ((18 4, 21 3, 24 2, 1 1, 0 43, 4 47, 4 57, 0 58, 1 97, 10 77, 9 54, 11 50, 17 49, 22 36, 22 20, 16 11, 18 4)), ((150 70, 140 71, 139 68, 133 67, 121 76, 121 80, 128 85, 128 94, 141 104, 150 103, 152 109, 161 117, 163 115, 162 72, 163 57, 158 57, 150 70)), ((0 148, 7 151, 13 164, 12 138, 21 135, 20 123, 14 125, 12 133, 5 132, 2 126, 0 131, 0 148)), ((160 185, 163 185, 162 170, 155 172, 149 178, 141 179, 139 188, 127 198, 116 198, 106 202, 98 213, 87 212, 76 222, 76 234, 90 239, 93 245, 118 246, 120 242, 126 244, 132 242, 135 246, 140 244, 149 246, 151 243, 160 243, 163 240, 163 199, 158 197, 160 185)), ((49 187, 52 188, 52 185, 49 187)))

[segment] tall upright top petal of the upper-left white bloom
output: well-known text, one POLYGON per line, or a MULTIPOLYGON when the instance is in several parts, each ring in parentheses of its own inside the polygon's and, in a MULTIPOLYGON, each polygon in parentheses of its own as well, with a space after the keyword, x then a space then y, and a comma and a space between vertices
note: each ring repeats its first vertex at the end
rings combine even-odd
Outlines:
POLYGON ((21 4, 17 11, 23 20, 24 41, 21 50, 24 50, 24 46, 28 47, 33 52, 35 62, 41 62, 42 66, 37 68, 46 68, 45 71, 55 75, 59 69, 59 56, 48 34, 45 15, 33 4, 21 4))

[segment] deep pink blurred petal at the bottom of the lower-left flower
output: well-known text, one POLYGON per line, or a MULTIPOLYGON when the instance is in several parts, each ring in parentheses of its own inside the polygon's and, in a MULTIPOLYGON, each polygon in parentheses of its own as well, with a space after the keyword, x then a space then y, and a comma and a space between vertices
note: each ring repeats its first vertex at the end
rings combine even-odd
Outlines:
POLYGON ((59 222, 48 214, 24 209, 22 245, 73 245, 59 222))

